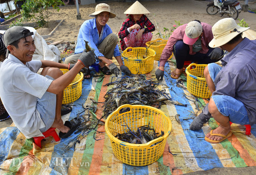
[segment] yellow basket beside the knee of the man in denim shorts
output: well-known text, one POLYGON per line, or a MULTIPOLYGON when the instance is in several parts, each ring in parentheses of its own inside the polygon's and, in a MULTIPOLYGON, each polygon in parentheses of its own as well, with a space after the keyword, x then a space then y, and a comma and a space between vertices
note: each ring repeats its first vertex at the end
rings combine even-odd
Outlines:
POLYGON ((210 98, 212 95, 204 77, 204 68, 206 66, 206 64, 192 63, 186 68, 187 90, 201 98, 210 98), (195 66, 195 68, 190 69, 191 66, 195 66))

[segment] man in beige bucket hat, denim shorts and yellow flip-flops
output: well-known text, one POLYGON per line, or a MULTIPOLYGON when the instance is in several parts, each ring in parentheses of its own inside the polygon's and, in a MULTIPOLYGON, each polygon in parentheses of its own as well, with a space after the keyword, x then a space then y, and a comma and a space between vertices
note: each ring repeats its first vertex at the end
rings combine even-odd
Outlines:
POLYGON ((219 143, 232 135, 230 122, 256 123, 256 40, 242 38, 250 27, 240 27, 233 18, 224 18, 212 27, 210 47, 229 53, 221 59, 222 67, 210 63, 204 70, 212 97, 197 116, 190 130, 200 130, 212 116, 219 127, 206 134, 205 140, 219 143))

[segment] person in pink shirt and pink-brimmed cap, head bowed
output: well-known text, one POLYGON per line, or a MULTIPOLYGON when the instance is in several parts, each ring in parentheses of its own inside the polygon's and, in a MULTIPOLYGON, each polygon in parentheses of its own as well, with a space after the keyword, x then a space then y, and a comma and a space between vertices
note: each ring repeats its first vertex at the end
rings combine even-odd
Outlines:
POLYGON ((198 20, 183 24, 174 30, 163 49, 159 68, 155 71, 157 79, 163 79, 164 66, 174 53, 176 69, 171 77, 178 79, 183 72, 185 61, 194 61, 198 64, 214 63, 220 60, 223 51, 220 48, 211 48, 209 42, 213 39, 212 26, 198 20))

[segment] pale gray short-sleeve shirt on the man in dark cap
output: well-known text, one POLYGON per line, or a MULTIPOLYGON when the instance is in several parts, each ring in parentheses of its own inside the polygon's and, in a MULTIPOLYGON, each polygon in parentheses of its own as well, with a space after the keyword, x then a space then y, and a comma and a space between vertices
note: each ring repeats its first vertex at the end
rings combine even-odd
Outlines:
POLYGON ((26 138, 43 136, 40 128, 44 122, 36 109, 37 98, 41 98, 53 80, 37 74, 40 60, 24 65, 9 54, 0 67, 0 97, 14 124, 26 138))

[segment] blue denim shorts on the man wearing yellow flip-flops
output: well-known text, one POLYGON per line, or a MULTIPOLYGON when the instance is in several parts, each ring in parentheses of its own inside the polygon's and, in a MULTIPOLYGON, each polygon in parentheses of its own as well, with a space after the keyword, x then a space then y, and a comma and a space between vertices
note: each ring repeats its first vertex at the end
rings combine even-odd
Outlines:
MULTIPOLYGON (((221 66, 215 63, 208 64, 209 74, 213 81, 221 68, 221 66)), ((247 111, 241 101, 228 95, 213 95, 211 98, 214 101, 218 111, 222 115, 228 116, 230 122, 240 125, 250 124, 247 111)))

